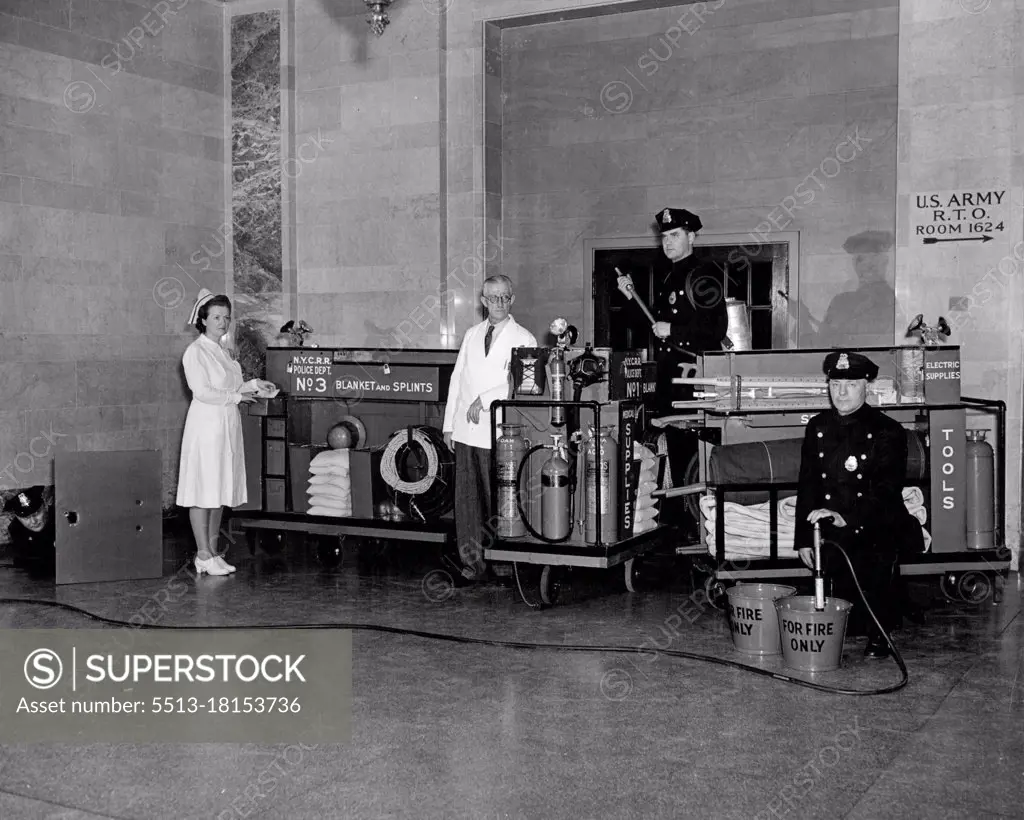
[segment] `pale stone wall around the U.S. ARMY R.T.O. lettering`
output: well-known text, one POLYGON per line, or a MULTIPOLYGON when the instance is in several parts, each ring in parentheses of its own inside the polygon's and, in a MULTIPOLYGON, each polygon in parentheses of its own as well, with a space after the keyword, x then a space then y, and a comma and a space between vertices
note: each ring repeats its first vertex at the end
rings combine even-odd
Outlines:
POLYGON ((1021 0, 900 0, 896 296, 906 313, 949 318, 966 395, 1007 402, 1007 530, 1015 549, 1024 385, 1022 34, 1021 0), (991 242, 926 246, 914 235, 919 192, 989 188, 1011 199, 1008 229, 991 242))

